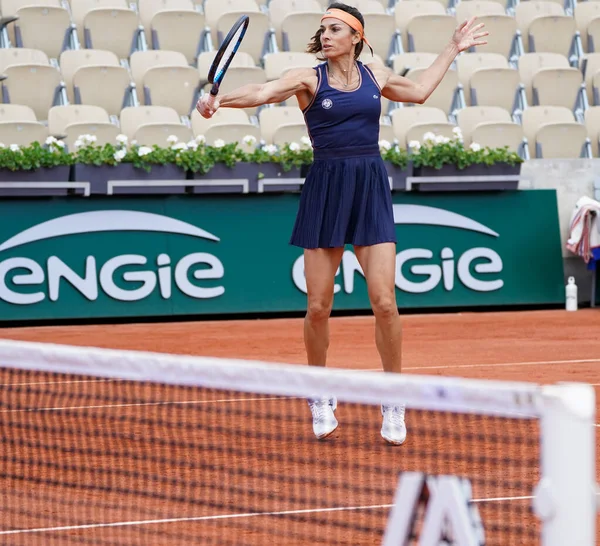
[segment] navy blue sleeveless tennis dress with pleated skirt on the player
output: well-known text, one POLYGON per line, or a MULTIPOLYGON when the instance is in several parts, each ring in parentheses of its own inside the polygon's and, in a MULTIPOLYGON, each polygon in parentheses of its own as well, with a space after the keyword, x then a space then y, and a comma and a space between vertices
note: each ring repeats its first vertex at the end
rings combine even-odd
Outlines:
POLYGON ((317 90, 303 111, 312 141, 290 243, 335 248, 396 242, 388 173, 379 151, 381 90, 360 61, 353 91, 329 85, 327 63, 315 67, 317 90))

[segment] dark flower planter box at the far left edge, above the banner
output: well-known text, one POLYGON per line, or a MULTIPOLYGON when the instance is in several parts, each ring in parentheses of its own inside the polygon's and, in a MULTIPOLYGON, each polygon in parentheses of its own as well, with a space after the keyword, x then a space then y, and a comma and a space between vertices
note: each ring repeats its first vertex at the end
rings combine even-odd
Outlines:
POLYGON ((71 166, 69 165, 19 171, 0 169, 0 197, 46 197, 83 194, 83 188, 70 186, 70 179, 71 166), (52 184, 61 187, 52 187, 52 184))

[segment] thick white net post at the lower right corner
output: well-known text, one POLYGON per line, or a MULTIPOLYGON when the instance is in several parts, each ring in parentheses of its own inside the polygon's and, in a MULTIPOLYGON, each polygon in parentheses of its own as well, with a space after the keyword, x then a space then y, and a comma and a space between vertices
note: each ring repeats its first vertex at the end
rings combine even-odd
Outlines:
POLYGON ((579 383, 541 390, 541 479, 533 508, 542 546, 593 546, 596 541, 594 388, 579 383))

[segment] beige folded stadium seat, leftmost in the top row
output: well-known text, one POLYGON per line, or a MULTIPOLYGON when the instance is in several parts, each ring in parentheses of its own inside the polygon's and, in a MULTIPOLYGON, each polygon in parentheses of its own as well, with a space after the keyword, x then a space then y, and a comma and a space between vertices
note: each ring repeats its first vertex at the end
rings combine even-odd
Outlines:
POLYGON ((75 28, 65 8, 30 5, 19 8, 17 16, 14 23, 17 47, 40 49, 51 59, 58 59, 70 47, 75 28))

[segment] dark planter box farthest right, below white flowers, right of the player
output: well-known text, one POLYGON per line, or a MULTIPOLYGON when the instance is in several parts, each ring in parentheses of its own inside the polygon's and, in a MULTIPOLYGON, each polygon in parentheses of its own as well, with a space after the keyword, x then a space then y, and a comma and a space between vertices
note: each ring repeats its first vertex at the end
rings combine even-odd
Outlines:
POLYGON ((414 167, 413 177, 429 179, 419 183, 413 180, 411 189, 418 191, 506 191, 516 190, 519 186, 518 175, 521 165, 498 163, 495 165, 470 165, 459 169, 456 165, 434 167, 414 167), (498 177, 492 180, 468 180, 468 177, 498 177), (434 177, 452 177, 455 180, 435 182, 434 177), (464 179, 464 180, 463 180, 464 179))

